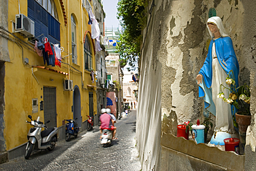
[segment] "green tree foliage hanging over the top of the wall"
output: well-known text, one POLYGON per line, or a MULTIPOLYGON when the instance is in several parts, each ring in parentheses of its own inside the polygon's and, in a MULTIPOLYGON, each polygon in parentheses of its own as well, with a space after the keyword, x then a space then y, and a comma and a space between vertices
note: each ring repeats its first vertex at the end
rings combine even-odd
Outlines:
MULTIPOLYGON (((122 26, 120 42, 117 52, 120 54, 121 67, 127 64, 135 69, 140 56, 140 44, 142 43, 141 30, 147 22, 147 0, 119 0, 118 19, 122 26)), ((128 68, 129 70, 129 68, 128 68)))

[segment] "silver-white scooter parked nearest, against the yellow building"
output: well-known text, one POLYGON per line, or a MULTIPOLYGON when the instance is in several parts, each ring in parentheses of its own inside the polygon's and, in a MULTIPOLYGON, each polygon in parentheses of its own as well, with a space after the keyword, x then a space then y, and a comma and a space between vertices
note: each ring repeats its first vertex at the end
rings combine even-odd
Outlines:
MULTIPOLYGON (((28 131, 28 143, 26 145, 26 151, 25 151, 25 159, 28 159, 30 157, 31 152, 33 149, 39 149, 44 150, 47 149, 49 151, 53 150, 55 148, 55 144, 57 141, 57 129, 58 128, 47 128, 46 125, 44 125, 43 122, 39 121, 40 117, 37 117, 37 120, 33 121, 31 115, 28 115, 28 118, 31 121, 26 121, 27 123, 30 123, 30 125, 33 125, 34 128, 30 128, 28 131), (42 130, 42 128, 45 128, 45 130, 42 130)), ((49 123, 50 121, 47 121, 46 123, 49 123)))

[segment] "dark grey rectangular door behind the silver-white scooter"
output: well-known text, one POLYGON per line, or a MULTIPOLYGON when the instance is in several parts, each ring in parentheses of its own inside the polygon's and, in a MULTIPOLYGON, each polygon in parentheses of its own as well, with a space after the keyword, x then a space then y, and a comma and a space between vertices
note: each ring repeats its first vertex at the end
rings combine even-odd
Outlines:
POLYGON ((57 127, 56 88, 44 87, 44 123, 48 128, 57 127))

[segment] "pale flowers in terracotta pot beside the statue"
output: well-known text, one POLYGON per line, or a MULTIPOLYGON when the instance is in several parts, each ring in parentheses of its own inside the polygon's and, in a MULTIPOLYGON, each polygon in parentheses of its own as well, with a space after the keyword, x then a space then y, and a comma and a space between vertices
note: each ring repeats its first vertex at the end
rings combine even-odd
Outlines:
POLYGON ((235 118, 233 119, 234 125, 238 125, 240 142, 245 144, 245 135, 248 125, 250 125, 250 86, 244 83, 243 86, 236 87, 235 80, 232 79, 233 75, 232 70, 231 73, 228 74, 226 78, 226 83, 229 87, 223 86, 221 83, 219 90, 219 94, 217 98, 223 99, 224 102, 230 103, 235 108, 237 108, 238 112, 235 113, 235 118), (225 94, 223 93, 224 89, 230 90, 230 94, 228 98, 225 98, 225 94))

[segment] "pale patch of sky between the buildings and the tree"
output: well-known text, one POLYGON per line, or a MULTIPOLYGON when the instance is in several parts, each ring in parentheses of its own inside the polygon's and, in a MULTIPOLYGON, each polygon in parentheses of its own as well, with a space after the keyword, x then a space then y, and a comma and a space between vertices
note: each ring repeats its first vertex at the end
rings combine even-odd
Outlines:
POLYGON ((106 13, 105 18, 105 27, 107 28, 118 28, 118 19, 116 18, 118 10, 116 7, 118 6, 118 0, 103 0, 103 9, 106 13))

